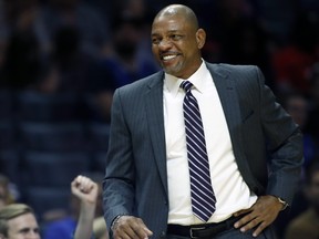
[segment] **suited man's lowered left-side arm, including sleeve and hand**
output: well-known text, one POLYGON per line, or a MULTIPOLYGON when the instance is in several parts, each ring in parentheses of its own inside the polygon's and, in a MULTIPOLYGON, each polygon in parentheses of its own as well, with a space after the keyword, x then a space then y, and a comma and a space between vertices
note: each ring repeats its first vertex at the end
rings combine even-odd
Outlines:
POLYGON ((103 180, 104 217, 113 238, 147 238, 152 231, 134 217, 134 153, 121 89, 113 96, 110 144, 103 180))

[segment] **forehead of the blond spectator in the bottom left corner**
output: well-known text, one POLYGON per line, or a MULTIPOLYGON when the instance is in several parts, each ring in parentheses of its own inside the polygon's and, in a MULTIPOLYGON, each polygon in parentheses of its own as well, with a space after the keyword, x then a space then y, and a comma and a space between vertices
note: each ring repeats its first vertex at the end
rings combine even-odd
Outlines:
POLYGON ((38 228, 38 222, 32 214, 25 214, 21 215, 19 217, 12 218, 11 220, 8 220, 9 226, 9 233, 10 232, 17 232, 24 228, 38 228))

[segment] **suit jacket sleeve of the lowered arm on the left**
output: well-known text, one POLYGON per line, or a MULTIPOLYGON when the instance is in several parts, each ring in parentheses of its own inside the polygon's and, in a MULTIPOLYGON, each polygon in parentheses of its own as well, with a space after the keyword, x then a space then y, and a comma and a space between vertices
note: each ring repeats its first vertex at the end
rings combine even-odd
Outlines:
MULTIPOLYGON (((131 137, 123 116, 121 90, 116 90, 112 105, 112 126, 103 180, 103 206, 106 225, 111 227, 117 215, 133 215, 134 166, 131 137), (105 207, 107 205, 107 207, 105 207)), ((111 230, 110 230, 111 231, 111 230)))

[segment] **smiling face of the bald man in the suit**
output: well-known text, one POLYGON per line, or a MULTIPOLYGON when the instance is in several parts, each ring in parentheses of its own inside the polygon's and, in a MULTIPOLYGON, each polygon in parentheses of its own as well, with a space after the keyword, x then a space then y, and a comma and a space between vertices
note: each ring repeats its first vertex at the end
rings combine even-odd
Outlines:
POLYGON ((152 25, 152 51, 163 70, 176 77, 189 77, 202 64, 200 49, 206 33, 181 14, 160 15, 152 25))

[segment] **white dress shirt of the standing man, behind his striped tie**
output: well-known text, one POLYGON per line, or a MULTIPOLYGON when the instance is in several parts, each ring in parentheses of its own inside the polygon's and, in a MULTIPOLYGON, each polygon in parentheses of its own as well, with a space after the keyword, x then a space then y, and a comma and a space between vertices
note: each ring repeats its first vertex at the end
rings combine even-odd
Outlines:
MULTIPOLYGON (((179 87, 182 79, 165 74, 164 123, 167 156, 169 212, 168 224, 203 224, 192 212, 186 135, 183 115, 185 92, 179 87)), ((249 208, 257 196, 244 181, 233 153, 230 136, 210 72, 206 64, 189 77, 192 93, 197 98, 204 125, 216 211, 208 222, 229 218, 235 211, 249 208)))

